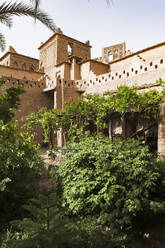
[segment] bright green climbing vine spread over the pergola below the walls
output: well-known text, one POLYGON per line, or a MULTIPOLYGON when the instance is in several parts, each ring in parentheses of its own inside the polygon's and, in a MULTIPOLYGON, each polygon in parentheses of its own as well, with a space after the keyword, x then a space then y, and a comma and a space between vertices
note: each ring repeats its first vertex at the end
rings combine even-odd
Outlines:
MULTIPOLYGON (((159 81, 161 85, 163 81, 159 81)), ((77 139, 84 134, 104 133, 109 121, 117 114, 120 118, 138 118, 156 122, 159 104, 165 97, 165 90, 147 89, 139 92, 136 87, 119 86, 116 93, 105 96, 87 95, 72 102, 64 110, 41 109, 27 117, 27 128, 40 126, 44 141, 51 141, 51 134, 63 131, 66 140, 77 139)), ((132 136, 131 136, 132 137, 132 136)))

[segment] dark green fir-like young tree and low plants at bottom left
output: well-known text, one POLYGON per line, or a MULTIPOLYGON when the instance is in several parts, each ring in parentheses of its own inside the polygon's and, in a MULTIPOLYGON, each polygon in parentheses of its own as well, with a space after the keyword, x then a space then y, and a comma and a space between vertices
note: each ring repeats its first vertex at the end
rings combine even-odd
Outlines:
POLYGON ((56 193, 39 194, 25 208, 31 217, 12 223, 17 232, 8 232, 2 248, 120 248, 109 232, 67 218, 56 193))

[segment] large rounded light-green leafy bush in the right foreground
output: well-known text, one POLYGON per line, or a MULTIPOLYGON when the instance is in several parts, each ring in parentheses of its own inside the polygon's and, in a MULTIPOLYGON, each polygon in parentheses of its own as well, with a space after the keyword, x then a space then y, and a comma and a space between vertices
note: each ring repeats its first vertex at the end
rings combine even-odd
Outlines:
POLYGON ((71 143, 59 174, 69 213, 95 216, 112 233, 136 233, 141 221, 165 210, 160 162, 137 140, 71 143))

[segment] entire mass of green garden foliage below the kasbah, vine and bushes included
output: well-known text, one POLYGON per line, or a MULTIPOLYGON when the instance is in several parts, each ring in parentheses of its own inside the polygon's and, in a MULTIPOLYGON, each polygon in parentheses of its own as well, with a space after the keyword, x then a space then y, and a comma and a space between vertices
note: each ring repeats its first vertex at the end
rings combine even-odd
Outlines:
POLYGON ((147 224, 164 218, 162 164, 142 137, 106 136, 116 114, 125 122, 157 123, 165 92, 121 86, 106 97, 88 95, 64 110, 32 113, 21 133, 12 117, 22 92, 11 88, 0 96, 0 228, 11 228, 12 221, 1 247, 144 247, 147 224), (58 172, 51 169, 60 183, 44 194, 36 191, 44 170, 31 134, 38 125, 51 148, 59 130, 68 141, 58 172))

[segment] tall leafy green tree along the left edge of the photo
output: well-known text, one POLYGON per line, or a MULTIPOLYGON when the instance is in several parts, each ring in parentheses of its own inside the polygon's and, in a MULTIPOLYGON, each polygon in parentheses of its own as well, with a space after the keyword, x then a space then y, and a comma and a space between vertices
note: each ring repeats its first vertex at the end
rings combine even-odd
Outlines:
POLYGON ((43 174, 39 145, 30 133, 21 133, 17 121, 12 120, 23 92, 20 87, 9 88, 0 95, 0 230, 24 216, 22 205, 35 196, 36 182, 43 174))

